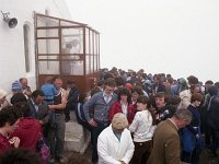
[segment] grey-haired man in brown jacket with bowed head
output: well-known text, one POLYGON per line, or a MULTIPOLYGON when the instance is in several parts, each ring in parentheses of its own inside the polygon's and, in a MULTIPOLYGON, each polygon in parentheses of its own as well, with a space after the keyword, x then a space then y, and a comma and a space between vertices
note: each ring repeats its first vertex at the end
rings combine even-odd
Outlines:
POLYGON ((160 122, 153 134, 153 149, 147 164, 182 164, 177 130, 192 120, 188 109, 177 109, 173 117, 160 122))

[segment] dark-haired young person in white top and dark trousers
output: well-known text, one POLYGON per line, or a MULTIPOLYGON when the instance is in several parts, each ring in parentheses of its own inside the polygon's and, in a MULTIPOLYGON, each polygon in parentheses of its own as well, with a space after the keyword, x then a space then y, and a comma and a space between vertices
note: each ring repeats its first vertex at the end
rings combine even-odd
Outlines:
POLYGON ((129 127, 134 133, 135 152, 131 164, 147 163, 152 150, 152 137, 155 129, 153 118, 149 108, 150 99, 147 96, 139 96, 137 99, 137 113, 129 127))

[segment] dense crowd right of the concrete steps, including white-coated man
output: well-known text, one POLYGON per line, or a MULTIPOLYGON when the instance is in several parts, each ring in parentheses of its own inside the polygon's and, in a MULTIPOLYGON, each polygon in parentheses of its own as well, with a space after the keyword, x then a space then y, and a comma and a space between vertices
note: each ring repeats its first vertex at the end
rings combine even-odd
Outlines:
POLYGON ((171 74, 143 70, 103 69, 80 108, 81 120, 91 131, 92 162, 198 164, 204 148, 217 156, 214 126, 218 126, 207 117, 219 106, 218 84, 210 80, 203 84, 195 75, 174 80, 171 74), (114 125, 118 113, 128 124, 114 125))

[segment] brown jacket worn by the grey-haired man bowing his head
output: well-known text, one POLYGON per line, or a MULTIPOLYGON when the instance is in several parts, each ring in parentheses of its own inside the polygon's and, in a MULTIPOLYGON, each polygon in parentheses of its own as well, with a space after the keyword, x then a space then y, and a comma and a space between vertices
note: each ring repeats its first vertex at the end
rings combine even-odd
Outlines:
POLYGON ((166 119, 158 125, 153 149, 147 164, 181 164, 180 136, 175 125, 166 119))

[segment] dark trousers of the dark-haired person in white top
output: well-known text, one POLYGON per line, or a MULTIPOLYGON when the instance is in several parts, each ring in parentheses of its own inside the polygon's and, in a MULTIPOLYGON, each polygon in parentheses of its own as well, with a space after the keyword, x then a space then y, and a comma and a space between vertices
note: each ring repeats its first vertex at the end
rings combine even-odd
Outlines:
POLYGON ((146 142, 134 142, 135 152, 130 164, 146 164, 152 151, 152 140, 146 142))

